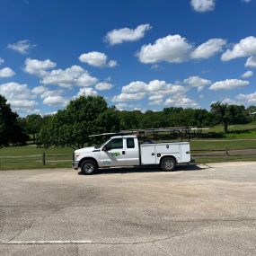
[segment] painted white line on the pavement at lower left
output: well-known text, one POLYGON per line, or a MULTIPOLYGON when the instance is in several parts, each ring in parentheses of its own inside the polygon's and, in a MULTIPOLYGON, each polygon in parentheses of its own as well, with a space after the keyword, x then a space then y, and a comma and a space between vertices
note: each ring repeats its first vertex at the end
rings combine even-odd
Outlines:
POLYGON ((0 244, 85 244, 92 243, 90 240, 49 240, 49 241, 0 241, 0 244))

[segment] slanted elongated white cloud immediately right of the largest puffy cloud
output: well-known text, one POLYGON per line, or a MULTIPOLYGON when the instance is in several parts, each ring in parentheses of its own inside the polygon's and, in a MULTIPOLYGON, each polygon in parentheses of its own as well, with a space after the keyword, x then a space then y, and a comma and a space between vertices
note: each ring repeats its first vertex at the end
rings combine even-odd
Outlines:
POLYGON ((221 52, 226 44, 226 40, 223 39, 211 39, 207 42, 199 45, 197 49, 194 49, 190 57, 191 58, 209 58, 214 56, 216 53, 221 52))

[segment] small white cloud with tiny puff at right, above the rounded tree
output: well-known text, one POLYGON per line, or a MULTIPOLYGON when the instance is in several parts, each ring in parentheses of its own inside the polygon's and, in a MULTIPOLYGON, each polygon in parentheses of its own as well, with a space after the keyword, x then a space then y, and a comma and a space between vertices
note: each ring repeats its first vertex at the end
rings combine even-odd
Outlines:
POLYGON ((83 53, 78 58, 81 62, 87 63, 88 65, 91 65, 91 66, 114 67, 118 65, 116 60, 111 59, 110 61, 108 61, 107 55, 99 51, 91 51, 88 53, 83 53))

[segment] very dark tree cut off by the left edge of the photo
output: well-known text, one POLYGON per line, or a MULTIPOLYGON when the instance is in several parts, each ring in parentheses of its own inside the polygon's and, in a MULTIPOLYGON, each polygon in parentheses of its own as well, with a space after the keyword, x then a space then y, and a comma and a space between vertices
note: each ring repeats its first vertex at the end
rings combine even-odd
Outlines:
POLYGON ((25 144, 28 135, 20 125, 18 114, 13 112, 4 96, 0 95, 0 146, 25 144))

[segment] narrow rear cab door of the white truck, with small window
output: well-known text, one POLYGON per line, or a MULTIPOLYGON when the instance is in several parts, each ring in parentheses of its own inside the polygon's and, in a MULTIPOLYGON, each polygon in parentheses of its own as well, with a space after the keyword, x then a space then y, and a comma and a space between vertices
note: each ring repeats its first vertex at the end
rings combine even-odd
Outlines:
POLYGON ((137 137, 126 138, 127 165, 139 165, 137 137))

